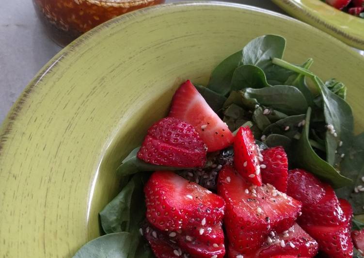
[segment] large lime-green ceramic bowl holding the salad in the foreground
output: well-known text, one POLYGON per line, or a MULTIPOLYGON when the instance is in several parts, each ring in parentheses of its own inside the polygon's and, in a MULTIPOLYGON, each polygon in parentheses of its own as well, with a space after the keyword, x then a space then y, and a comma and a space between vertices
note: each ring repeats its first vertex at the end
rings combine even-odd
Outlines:
POLYGON ((99 235, 98 212, 116 194, 115 169, 164 116, 180 82, 251 39, 286 37, 285 59, 348 85, 364 129, 364 59, 309 25, 219 2, 160 5, 117 17, 57 54, 0 129, 0 256, 70 257, 99 235), (307 39, 310 39, 309 41, 307 39))

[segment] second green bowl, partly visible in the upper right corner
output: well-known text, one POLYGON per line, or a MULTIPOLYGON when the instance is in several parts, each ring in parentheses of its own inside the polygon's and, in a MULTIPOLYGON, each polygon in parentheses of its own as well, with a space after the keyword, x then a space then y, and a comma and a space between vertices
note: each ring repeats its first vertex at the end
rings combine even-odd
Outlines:
POLYGON ((291 16, 331 34, 354 48, 364 49, 363 18, 337 10, 321 0, 272 1, 291 16))

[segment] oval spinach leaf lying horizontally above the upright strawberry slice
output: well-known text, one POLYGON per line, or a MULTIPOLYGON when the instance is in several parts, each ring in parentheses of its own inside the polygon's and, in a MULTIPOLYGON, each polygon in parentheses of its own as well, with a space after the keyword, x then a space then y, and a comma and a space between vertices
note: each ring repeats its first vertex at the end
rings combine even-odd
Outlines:
POLYGON ((243 102, 249 100, 253 103, 272 107, 273 109, 288 115, 302 114, 307 110, 307 102, 302 93, 293 86, 276 85, 262 89, 246 88, 241 91, 243 102))

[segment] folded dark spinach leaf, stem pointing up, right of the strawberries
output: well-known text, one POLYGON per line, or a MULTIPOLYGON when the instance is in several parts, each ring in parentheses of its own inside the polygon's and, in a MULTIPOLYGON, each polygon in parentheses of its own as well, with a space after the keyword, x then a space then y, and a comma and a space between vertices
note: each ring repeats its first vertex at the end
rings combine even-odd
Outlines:
POLYGON ((312 174, 324 181, 328 181, 334 188, 339 188, 350 184, 352 181, 349 178, 340 175, 329 163, 322 160, 312 149, 308 138, 310 119, 311 108, 308 108, 305 126, 296 146, 296 156, 299 157, 296 160, 298 167, 310 171, 312 174))

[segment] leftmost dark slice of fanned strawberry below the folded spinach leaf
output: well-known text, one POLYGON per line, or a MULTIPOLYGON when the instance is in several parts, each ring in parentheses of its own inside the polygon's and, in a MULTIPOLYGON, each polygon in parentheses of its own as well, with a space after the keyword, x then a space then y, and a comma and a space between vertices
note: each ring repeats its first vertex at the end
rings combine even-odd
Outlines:
POLYGON ((325 195, 324 184, 303 169, 288 171, 287 194, 302 202, 302 206, 316 205, 325 195))

